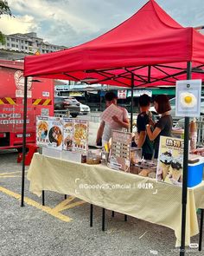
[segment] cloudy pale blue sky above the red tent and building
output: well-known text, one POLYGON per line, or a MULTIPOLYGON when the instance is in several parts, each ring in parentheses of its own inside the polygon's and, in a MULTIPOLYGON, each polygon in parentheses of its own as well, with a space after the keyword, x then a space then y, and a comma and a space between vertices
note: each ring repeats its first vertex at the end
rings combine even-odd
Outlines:
MULTIPOLYGON (((6 34, 35 31, 49 43, 74 46, 111 30, 147 0, 8 0, 15 18, 2 16, 6 34)), ((183 26, 204 25, 203 0, 156 0, 183 26)))

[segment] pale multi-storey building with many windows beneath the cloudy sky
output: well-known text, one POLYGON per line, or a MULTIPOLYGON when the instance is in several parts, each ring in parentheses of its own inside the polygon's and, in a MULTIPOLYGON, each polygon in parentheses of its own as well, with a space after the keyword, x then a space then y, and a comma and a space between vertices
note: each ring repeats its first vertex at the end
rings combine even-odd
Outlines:
POLYGON ((0 43, 0 49, 14 50, 26 54, 35 54, 36 52, 43 54, 67 49, 67 47, 43 42, 43 39, 37 37, 35 32, 30 32, 5 35, 5 44, 0 43))

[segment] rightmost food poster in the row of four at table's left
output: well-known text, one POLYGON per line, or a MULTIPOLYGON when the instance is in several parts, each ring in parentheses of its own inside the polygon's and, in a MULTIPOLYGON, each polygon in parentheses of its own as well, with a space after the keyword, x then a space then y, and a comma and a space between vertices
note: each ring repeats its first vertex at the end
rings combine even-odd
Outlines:
POLYGON ((86 154, 88 149, 88 121, 76 119, 73 123, 73 151, 86 154))

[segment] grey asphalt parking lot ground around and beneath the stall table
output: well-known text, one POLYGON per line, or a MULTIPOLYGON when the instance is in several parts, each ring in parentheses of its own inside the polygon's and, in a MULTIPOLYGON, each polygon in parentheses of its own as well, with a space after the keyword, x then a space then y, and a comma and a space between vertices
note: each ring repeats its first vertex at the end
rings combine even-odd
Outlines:
MULTIPOLYGON (((78 256, 78 255, 179 255, 174 232, 164 226, 106 211, 105 232, 101 231, 102 210, 94 207, 89 226, 90 205, 79 199, 46 192, 41 198, 29 193, 25 182, 25 207, 20 207, 21 164, 17 153, 0 153, 0 255, 78 256), (52 214, 54 207, 61 210, 52 214)), ((192 239, 197 243, 199 236, 192 239)), ((204 241, 203 241, 204 243, 204 241)), ((187 248, 186 255, 202 255, 187 248)))

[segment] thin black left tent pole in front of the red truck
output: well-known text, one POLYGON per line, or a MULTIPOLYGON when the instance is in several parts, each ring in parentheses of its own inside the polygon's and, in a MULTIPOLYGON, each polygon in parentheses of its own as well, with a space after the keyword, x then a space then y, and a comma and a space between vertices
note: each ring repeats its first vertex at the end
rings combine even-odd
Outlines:
POLYGON ((28 76, 24 82, 24 108, 23 108, 23 134, 22 134, 22 198, 21 207, 24 207, 24 185, 25 185, 25 154, 26 154, 26 121, 27 121, 27 90, 28 76))

